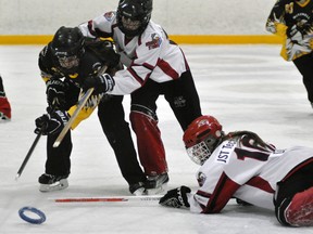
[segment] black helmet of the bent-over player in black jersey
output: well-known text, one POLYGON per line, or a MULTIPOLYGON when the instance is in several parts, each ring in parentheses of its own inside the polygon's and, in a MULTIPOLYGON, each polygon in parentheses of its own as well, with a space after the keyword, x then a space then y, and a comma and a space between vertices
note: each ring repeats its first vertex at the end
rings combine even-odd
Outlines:
POLYGON ((51 52, 67 73, 75 72, 85 52, 85 38, 78 27, 60 27, 50 43, 51 52))

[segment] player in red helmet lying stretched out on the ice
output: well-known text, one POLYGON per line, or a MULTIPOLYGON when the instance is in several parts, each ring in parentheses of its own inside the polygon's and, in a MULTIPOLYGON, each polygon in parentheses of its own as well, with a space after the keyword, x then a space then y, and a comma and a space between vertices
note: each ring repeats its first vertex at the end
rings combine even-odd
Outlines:
POLYGON ((184 134, 190 158, 202 165, 199 188, 168 191, 160 204, 217 213, 230 198, 275 211, 283 225, 313 225, 313 148, 276 150, 250 131, 225 134, 213 116, 197 118, 184 134))

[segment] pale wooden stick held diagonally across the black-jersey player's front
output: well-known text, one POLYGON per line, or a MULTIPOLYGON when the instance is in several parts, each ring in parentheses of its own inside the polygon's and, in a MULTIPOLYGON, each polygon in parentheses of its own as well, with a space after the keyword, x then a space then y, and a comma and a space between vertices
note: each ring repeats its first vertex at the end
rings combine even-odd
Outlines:
POLYGON ((58 147, 61 144, 61 142, 64 139, 65 134, 67 133, 67 131, 72 127, 74 120, 77 118, 79 112, 85 106, 86 102, 88 101, 88 99, 89 99, 89 96, 91 95, 92 92, 93 92, 93 88, 88 89, 87 92, 84 94, 84 96, 79 100, 75 112, 73 113, 73 115, 71 116, 70 120, 64 126, 64 128, 62 129, 62 131, 58 135, 55 142, 53 143, 53 147, 58 147))

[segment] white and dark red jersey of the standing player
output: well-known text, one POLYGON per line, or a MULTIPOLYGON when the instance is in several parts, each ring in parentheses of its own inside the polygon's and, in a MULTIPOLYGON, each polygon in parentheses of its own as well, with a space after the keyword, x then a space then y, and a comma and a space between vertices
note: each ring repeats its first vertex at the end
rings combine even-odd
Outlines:
POLYGON ((146 30, 127 40, 116 24, 116 12, 108 12, 79 25, 86 37, 111 37, 121 62, 127 69, 118 70, 111 94, 129 94, 145 84, 147 79, 165 82, 178 79, 188 70, 180 48, 171 42, 161 26, 149 22, 146 30))

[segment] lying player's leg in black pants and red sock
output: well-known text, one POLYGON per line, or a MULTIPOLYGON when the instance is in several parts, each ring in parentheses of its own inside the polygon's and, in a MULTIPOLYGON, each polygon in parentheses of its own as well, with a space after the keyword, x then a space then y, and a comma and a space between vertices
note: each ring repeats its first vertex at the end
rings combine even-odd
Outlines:
POLYGON ((283 225, 313 225, 313 164, 277 184, 275 213, 283 225))

